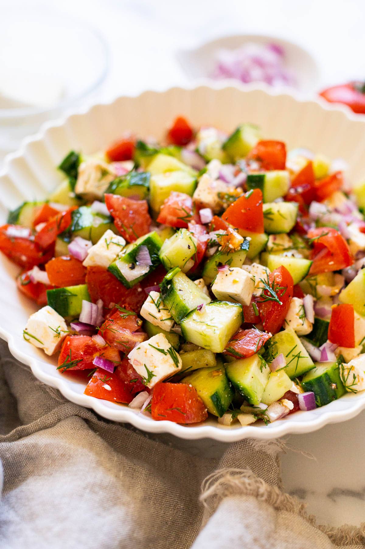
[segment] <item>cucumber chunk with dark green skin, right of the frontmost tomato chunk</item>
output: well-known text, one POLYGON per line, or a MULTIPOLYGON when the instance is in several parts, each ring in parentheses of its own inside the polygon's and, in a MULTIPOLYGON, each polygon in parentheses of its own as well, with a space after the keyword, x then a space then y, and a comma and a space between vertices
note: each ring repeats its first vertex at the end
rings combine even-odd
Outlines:
POLYGON ((207 411, 214 416, 222 417, 232 402, 233 390, 223 365, 199 368, 181 383, 193 385, 207 411))

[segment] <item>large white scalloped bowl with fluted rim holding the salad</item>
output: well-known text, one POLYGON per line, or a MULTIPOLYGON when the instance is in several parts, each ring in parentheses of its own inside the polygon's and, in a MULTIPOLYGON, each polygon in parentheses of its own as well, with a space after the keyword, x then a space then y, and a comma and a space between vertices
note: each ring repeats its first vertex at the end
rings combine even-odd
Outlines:
MULTIPOLYGON (((344 158, 349 176, 365 176, 365 116, 355 116, 344 107, 320 101, 306 101, 288 94, 276 94, 265 86, 200 86, 148 91, 139 97, 120 97, 111 104, 95 105, 85 113, 45 125, 27 139, 19 152, 9 155, 0 173, 0 221, 7 210, 23 200, 42 199, 61 176, 55 169, 70 150, 93 153, 105 148, 124 131, 141 136, 162 136, 173 118, 182 114, 195 126, 215 125, 232 131, 242 121, 255 122, 267 138, 281 139, 289 148, 307 147, 330 158, 344 158)), ((327 423, 350 419, 365 408, 365 391, 311 412, 297 412, 267 426, 224 427, 216 419, 196 425, 153 421, 128 406, 94 399, 83 394, 84 385, 63 377, 49 358, 23 339, 23 328, 36 310, 16 290, 19 268, 0 257, 0 335, 12 354, 29 365, 42 382, 56 387, 70 401, 93 408, 100 416, 133 424, 153 433, 171 433, 186 439, 212 438, 232 442, 243 438, 272 439, 289 433, 308 433, 327 423)))

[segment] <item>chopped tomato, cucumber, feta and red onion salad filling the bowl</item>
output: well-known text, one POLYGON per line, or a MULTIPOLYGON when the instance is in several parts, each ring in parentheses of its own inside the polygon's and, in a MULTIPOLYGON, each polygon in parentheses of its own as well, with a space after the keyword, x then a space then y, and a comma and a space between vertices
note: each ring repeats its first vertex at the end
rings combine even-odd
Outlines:
POLYGON ((338 168, 182 117, 71 151, 0 227, 41 307, 24 339, 156 421, 268 424, 364 390, 365 183, 338 168))

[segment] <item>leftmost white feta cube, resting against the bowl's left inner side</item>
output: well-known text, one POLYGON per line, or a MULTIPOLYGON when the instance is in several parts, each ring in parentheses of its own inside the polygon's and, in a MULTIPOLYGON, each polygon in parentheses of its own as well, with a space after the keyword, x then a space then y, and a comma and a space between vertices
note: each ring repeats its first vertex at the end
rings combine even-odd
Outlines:
POLYGON ((68 333, 64 318, 46 305, 29 317, 23 337, 46 355, 53 355, 68 333))

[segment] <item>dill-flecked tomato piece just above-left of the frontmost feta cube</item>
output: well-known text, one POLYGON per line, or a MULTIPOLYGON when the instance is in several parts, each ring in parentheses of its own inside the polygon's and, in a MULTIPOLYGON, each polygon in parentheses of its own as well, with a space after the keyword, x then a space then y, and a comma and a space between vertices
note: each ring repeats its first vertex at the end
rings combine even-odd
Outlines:
POLYGON ((147 339, 147 334, 139 332, 142 320, 131 311, 117 310, 100 326, 99 334, 106 343, 119 351, 128 353, 136 343, 147 339))

